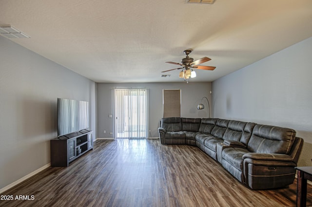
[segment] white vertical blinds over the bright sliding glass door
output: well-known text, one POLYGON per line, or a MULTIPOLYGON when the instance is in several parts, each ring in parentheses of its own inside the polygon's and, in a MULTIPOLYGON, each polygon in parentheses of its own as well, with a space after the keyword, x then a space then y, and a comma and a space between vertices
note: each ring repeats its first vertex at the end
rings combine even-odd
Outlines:
POLYGON ((148 138, 148 89, 114 89, 116 139, 148 138))

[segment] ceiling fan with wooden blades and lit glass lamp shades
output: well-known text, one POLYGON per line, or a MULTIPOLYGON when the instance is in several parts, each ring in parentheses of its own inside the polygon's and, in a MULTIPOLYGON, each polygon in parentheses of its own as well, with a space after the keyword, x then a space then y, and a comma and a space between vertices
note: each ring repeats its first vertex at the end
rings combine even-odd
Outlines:
POLYGON ((196 73, 195 73, 195 71, 193 69, 208 70, 208 71, 215 70, 215 67, 213 67, 213 66, 199 65, 201 63, 204 63, 204 62, 207 62, 207 61, 211 60, 209 57, 202 57, 202 58, 194 61, 194 59, 192 57, 189 57, 189 54, 191 52, 192 52, 192 50, 190 50, 190 49, 183 51, 183 53, 186 55, 186 57, 181 59, 181 63, 166 62, 166 63, 170 63, 170 64, 180 65, 182 67, 171 69, 171 70, 167 70, 167 71, 162 71, 161 73, 182 69, 182 71, 179 74, 179 77, 184 78, 184 79, 189 79, 190 77, 196 77, 196 73))

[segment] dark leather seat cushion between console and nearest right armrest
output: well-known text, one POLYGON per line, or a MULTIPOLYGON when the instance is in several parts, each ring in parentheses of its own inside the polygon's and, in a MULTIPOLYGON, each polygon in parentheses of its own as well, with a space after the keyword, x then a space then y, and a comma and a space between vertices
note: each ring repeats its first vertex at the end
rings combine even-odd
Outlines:
POLYGON ((243 169, 243 155, 249 153, 245 148, 225 148, 222 158, 237 169, 243 169))

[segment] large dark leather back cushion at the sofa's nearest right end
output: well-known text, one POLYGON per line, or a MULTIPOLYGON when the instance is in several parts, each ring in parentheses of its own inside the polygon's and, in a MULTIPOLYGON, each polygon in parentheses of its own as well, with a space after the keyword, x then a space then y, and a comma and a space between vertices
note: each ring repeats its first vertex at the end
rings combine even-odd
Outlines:
POLYGON ((251 152, 288 154, 295 136, 292 129, 257 124, 247 147, 251 152))

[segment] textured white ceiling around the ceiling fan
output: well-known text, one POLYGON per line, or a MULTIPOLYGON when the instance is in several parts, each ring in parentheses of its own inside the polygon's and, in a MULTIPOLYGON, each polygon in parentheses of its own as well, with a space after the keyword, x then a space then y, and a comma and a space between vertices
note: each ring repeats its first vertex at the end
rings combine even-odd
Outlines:
POLYGON ((96 82, 176 82, 185 49, 213 81, 312 36, 312 0, 0 0, 12 41, 96 82))

